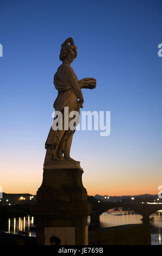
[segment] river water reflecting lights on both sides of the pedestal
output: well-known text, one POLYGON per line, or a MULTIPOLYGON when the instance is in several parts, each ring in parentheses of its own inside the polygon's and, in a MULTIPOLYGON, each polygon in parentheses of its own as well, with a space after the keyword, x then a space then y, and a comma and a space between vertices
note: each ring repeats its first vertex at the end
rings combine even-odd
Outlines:
MULTIPOLYGON (((104 212, 100 216, 100 226, 113 227, 116 225, 126 225, 126 224, 142 224, 142 216, 135 214, 135 212, 104 212)), ((90 217, 88 217, 88 223, 90 223, 90 217)), ((151 215, 151 244, 161 245, 161 235, 162 235, 162 211, 154 213, 151 215)), ((17 234, 18 231, 26 231, 29 236, 36 236, 36 231, 34 228, 34 217, 24 216, 17 218, 9 218, 5 223, 5 227, 0 229, 5 233, 17 234), (33 229, 31 228, 33 227, 33 229)))

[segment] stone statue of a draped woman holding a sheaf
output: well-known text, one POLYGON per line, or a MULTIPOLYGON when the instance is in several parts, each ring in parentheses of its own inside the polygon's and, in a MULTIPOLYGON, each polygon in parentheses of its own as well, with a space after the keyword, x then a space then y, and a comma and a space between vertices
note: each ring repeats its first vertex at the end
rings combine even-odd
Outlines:
MULTIPOLYGON (((83 94, 81 88, 94 89, 96 80, 94 78, 77 79, 71 68, 71 63, 77 57, 77 47, 72 38, 65 40, 61 45, 60 60, 63 61, 54 75, 54 86, 58 90, 57 99, 53 107, 55 111, 60 111, 64 117, 64 107, 68 107, 68 113, 78 111, 83 108, 83 94)), ((68 118, 70 123, 72 118, 68 118)), ((63 123, 64 125, 64 123, 63 123)), ((72 137, 75 130, 53 130, 49 131, 45 143, 46 156, 43 166, 47 166, 50 160, 75 161, 70 157, 72 137)))

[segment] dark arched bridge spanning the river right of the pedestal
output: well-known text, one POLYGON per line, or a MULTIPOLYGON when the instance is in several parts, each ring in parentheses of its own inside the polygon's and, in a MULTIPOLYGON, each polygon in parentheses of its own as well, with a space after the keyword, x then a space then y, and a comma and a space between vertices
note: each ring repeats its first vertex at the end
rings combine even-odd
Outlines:
POLYGON ((149 223, 149 216, 158 210, 162 210, 162 204, 151 203, 107 203, 107 202, 90 202, 93 205, 91 217, 91 224, 99 224, 99 216, 103 212, 113 208, 125 208, 133 210, 142 215, 142 221, 144 224, 149 223))

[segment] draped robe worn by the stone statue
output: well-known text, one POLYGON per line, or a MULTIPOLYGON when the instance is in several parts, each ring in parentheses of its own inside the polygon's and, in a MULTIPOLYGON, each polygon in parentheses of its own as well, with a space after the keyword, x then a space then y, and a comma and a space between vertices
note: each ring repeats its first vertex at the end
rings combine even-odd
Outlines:
MULTIPOLYGON (((54 101, 53 107, 55 111, 60 111, 63 115, 63 130, 53 130, 51 127, 45 143, 47 151, 44 166, 49 160, 63 160, 67 139, 70 134, 75 132, 75 129, 73 131, 70 129, 64 130, 64 107, 68 107, 68 114, 71 111, 79 112, 78 97, 74 93, 74 87, 75 90, 78 87, 78 79, 71 66, 64 63, 60 65, 54 75, 53 82, 55 89, 58 90, 58 96, 54 101)), ((71 119, 68 118, 68 124, 71 119)))

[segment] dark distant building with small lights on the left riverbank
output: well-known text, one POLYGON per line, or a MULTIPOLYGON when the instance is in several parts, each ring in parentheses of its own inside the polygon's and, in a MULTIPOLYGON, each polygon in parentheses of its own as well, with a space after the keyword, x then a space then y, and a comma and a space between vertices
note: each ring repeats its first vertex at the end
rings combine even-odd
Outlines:
POLYGON ((36 196, 33 194, 7 194, 3 193, 3 198, 0 199, 0 205, 12 205, 12 204, 29 204, 35 203, 36 196))

